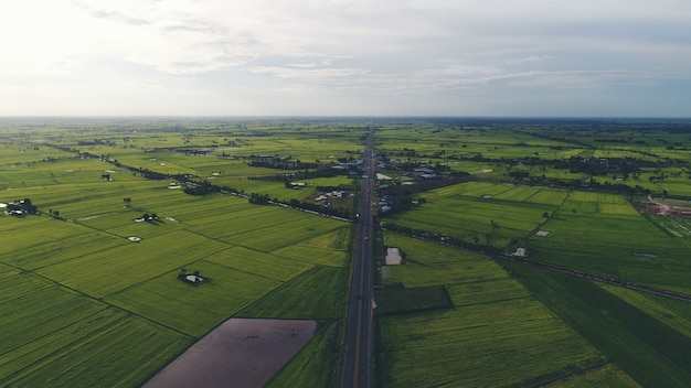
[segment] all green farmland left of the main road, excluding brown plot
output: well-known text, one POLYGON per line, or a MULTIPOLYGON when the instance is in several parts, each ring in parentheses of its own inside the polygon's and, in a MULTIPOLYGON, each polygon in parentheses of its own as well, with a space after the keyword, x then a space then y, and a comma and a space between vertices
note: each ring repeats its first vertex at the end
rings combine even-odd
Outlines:
MULTIPOLYGON (((180 184, 172 179, 146 180, 125 166, 191 173, 241 190, 263 182, 247 176, 281 171, 217 158, 215 149, 209 157, 146 151, 185 140, 205 147, 217 137, 129 134, 124 143, 113 133, 103 137, 111 144, 81 146, 98 136, 72 131, 61 139, 61 146, 104 154, 124 166, 57 151, 53 155, 61 159, 44 161, 36 150, 14 151, 21 144, 0 151, 0 203, 31 198, 39 209, 39 215, 0 217, 3 240, 12 241, 0 248, 0 280, 12 279, 0 284, 0 327, 12 337, 0 351, 0 385, 135 387, 241 311, 243 316, 316 319, 325 327, 342 315, 350 224, 234 195, 187 195, 171 188, 180 184), (143 214, 158 219, 137 222, 143 214), (131 236, 141 240, 132 242, 131 236), (179 281, 181 269, 199 271, 204 281, 179 281)), ((344 136, 312 157, 348 157, 359 136, 344 136)), ((251 137, 236 140, 246 157, 300 150, 306 158, 320 137, 262 142, 263 151, 252 148, 251 137)), ((31 139, 22 141, 29 149, 31 139)), ((353 183, 346 176, 306 182, 311 187, 353 183)), ((281 182, 267 183, 285 191, 286 201, 298 193, 281 182)), ((300 192, 313 193, 310 186, 300 192)), ((315 344, 328 344, 332 354, 333 330, 321 333, 315 344)), ((316 374, 332 375, 338 363, 326 357, 310 365, 316 374)))

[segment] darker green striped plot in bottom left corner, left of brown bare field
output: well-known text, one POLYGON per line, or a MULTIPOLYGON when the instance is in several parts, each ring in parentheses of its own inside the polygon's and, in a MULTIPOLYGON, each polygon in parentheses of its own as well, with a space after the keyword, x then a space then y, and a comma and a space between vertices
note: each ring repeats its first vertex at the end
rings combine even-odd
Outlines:
POLYGON ((33 274, 0 283, 0 385, 132 386, 190 338, 33 274), (21 301, 19 303, 18 301, 21 301))

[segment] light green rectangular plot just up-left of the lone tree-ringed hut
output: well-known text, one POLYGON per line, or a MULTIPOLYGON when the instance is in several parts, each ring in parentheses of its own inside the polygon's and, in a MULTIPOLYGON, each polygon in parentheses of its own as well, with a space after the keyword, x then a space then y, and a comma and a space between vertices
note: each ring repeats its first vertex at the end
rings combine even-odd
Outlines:
POLYGON ((209 257, 227 245, 188 231, 143 239, 38 270, 94 297, 105 297, 209 257))

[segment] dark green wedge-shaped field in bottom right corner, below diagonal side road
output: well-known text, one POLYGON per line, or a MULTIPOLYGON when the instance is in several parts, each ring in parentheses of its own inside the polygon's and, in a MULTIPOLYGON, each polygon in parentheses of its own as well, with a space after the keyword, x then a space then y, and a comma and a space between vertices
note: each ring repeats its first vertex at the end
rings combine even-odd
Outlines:
POLYGON ((589 281, 530 266, 507 266, 555 314, 640 385, 684 387, 691 381, 691 337, 589 281))

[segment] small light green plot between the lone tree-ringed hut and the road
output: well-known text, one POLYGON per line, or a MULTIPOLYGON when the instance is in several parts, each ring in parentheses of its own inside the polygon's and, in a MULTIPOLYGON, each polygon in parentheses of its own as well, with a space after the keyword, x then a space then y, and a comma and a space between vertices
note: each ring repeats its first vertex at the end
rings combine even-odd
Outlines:
POLYGON ((245 247, 232 247, 212 255, 205 260, 278 281, 289 280, 312 267, 301 260, 291 260, 245 247))

